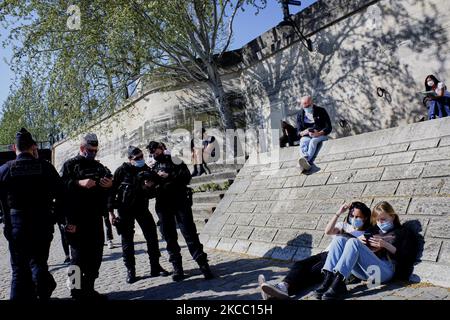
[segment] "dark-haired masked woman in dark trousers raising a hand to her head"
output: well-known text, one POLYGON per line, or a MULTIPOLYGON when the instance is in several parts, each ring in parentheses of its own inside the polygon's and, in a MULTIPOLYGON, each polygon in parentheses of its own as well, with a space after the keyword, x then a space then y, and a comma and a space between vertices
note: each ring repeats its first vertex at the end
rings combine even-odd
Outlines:
MULTIPOLYGON (((364 203, 344 204, 328 222, 325 234, 358 237, 371 226, 370 217, 370 209, 364 203), (349 212, 344 222, 337 222, 339 217, 347 210, 349 212)), ((263 299, 288 299, 290 295, 295 295, 300 290, 320 283, 323 280, 321 270, 326 258, 327 251, 324 251, 297 261, 284 280, 276 285, 266 283, 264 276, 260 275, 258 282, 263 299)))

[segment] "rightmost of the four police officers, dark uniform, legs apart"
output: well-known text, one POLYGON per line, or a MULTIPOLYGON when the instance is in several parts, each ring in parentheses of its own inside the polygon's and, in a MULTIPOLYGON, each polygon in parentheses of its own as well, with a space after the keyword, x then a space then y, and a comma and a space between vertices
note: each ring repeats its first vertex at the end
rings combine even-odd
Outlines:
POLYGON ((152 170, 161 178, 156 186, 155 210, 161 222, 161 232, 167 242, 169 261, 173 265, 172 279, 181 281, 185 278, 177 241, 177 223, 189 252, 198 263, 205 279, 212 279, 214 275, 198 238, 192 215, 192 190, 187 187, 191 180, 189 169, 184 162, 175 164, 170 155, 164 154, 161 143, 151 141, 147 150, 155 161, 152 170))

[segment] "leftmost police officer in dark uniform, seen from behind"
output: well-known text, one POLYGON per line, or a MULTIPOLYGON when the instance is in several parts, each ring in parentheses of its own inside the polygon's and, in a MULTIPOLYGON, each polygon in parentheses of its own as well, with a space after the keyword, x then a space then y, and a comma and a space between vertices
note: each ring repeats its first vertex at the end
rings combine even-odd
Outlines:
POLYGON ((11 300, 47 300, 56 287, 48 271, 53 239, 54 200, 61 198, 62 181, 55 168, 36 158, 37 145, 22 128, 16 135, 17 158, 0 167, 0 201, 4 233, 9 242, 11 300))

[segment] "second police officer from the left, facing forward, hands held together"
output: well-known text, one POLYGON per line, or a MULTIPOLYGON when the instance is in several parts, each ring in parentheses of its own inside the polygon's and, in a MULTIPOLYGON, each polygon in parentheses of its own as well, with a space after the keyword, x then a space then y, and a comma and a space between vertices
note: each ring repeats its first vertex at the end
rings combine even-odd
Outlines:
POLYGON ((71 265, 79 268, 81 276, 80 286, 71 290, 74 299, 106 299, 94 290, 94 283, 102 263, 103 217, 108 214, 112 174, 95 160, 97 152, 97 136, 87 134, 82 138, 79 154, 67 160, 62 168, 71 265))

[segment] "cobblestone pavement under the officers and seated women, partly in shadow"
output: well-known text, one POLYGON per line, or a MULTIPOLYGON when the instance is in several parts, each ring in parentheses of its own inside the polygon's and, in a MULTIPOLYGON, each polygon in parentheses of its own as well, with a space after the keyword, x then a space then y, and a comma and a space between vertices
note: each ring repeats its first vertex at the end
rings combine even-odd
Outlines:
MULTIPOLYGON (((212 269, 218 277, 206 281, 203 279, 196 263, 191 259, 186 246, 182 246, 184 268, 188 278, 175 283, 170 277, 150 278, 150 267, 146 254, 145 243, 136 236, 137 275, 140 280, 134 284, 125 282, 125 267, 122 262, 119 240, 115 238, 116 248, 105 247, 100 278, 96 289, 108 293, 110 299, 142 300, 142 299, 223 299, 223 300, 258 300, 261 299, 257 290, 257 278, 264 274, 270 282, 281 280, 286 274, 290 263, 253 258, 246 255, 232 254, 223 251, 207 251, 212 269)), ((161 264, 170 270, 165 243, 162 248, 161 264)), ((59 234, 55 233, 49 258, 50 270, 58 283, 53 293, 54 298, 68 298, 69 290, 65 286, 66 266, 62 264, 64 254, 59 234)), ((8 299, 11 280, 9 252, 6 239, 0 238, 0 299, 8 299)), ((393 283, 381 288, 365 290, 364 284, 352 285, 352 299, 370 300, 449 300, 450 289, 436 287, 430 284, 399 284, 393 283)), ((295 299, 313 299, 305 292, 295 299)))

